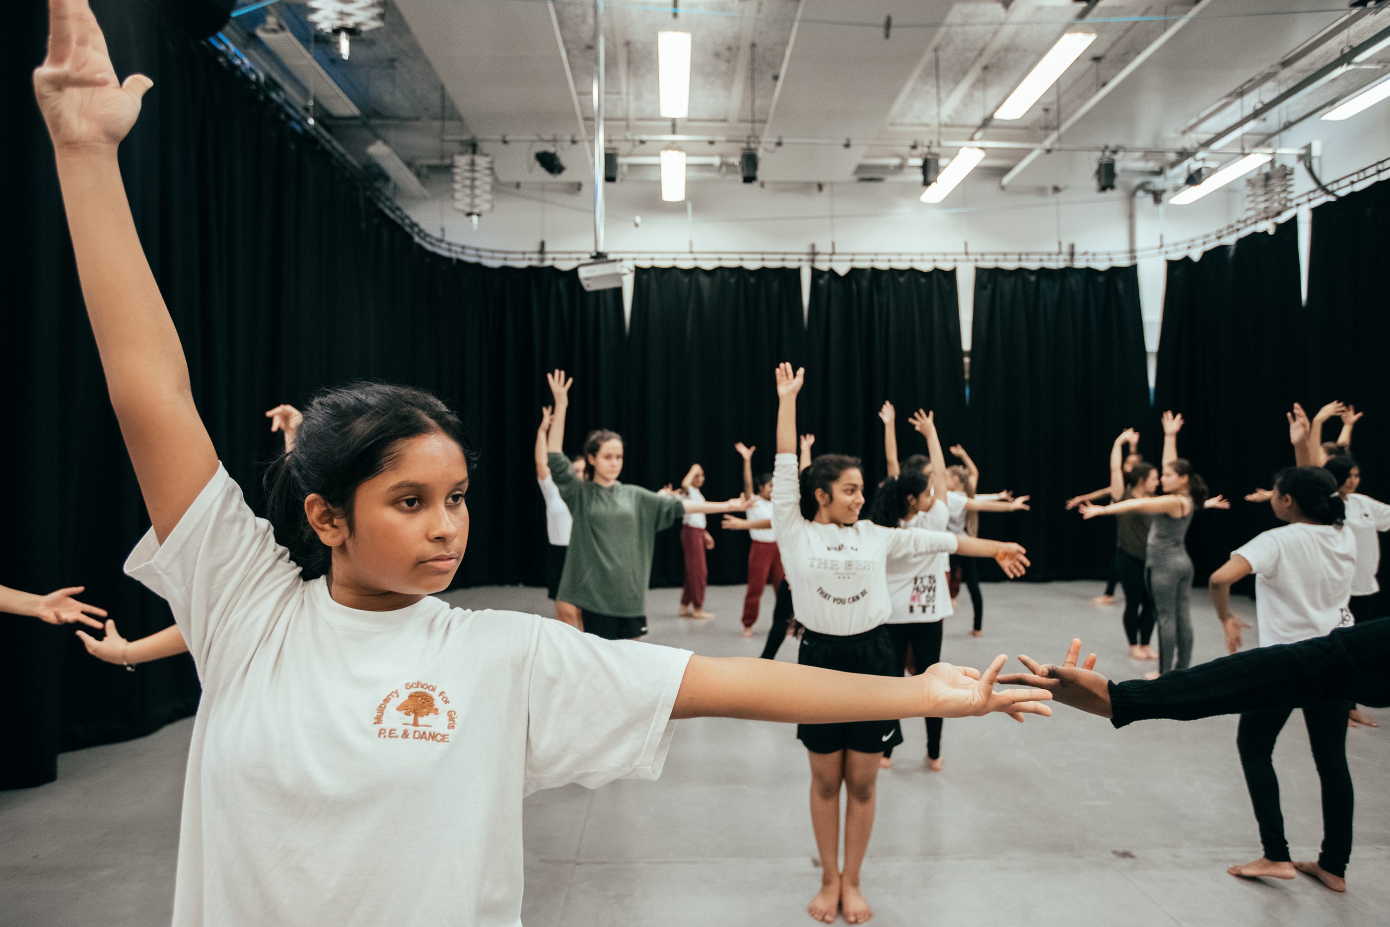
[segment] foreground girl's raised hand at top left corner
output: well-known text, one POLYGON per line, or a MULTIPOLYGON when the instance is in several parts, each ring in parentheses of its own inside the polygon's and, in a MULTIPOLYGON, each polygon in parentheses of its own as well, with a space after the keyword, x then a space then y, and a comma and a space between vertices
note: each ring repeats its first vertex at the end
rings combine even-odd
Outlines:
POLYGON ((140 97, 152 86, 143 74, 125 83, 117 79, 86 0, 49 0, 49 53, 33 72, 33 95, 54 149, 114 149, 135 125, 140 97))

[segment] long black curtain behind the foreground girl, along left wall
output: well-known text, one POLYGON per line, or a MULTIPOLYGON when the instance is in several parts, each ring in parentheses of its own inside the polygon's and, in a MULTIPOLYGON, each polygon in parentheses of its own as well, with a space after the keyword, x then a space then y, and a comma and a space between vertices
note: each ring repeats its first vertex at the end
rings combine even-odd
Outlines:
MULTIPOLYGON (((471 425, 480 463, 460 584, 541 582, 542 504, 531 464, 543 371, 575 374, 574 435, 620 414, 600 375, 626 356, 617 290, 573 272, 498 270, 421 249, 331 156, 210 46, 145 4, 93 3, 118 74, 154 79, 121 165, 146 253, 188 356, 199 409, 232 477, 260 504, 278 436, 261 413, 322 385, 379 378, 431 389, 471 425)), ((39 3, 11 17, 0 72, 13 108, 14 302, 0 314, 0 385, 13 486, 0 582, 47 592, 85 584, 121 632, 171 623, 121 573, 147 521, 111 413, 67 238, 53 153, 29 83, 43 57, 39 3)), ((192 713, 188 657, 125 673, 85 653, 71 628, 0 623, 11 724, 0 787, 56 774, 56 755, 138 737, 192 713), (49 698, 36 699, 44 692, 49 698)))

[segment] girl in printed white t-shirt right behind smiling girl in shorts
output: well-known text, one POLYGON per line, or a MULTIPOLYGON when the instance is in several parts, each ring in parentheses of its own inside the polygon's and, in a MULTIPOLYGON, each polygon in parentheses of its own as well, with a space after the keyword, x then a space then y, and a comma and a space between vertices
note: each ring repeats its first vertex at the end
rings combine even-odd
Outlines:
MULTIPOLYGON (((902 531, 944 531, 949 521, 947 509, 945 457, 933 413, 919 409, 912 416, 912 427, 927 441, 931 479, 920 468, 909 468, 888 477, 870 506, 869 518, 885 528, 902 531)), ((992 556, 1001 563, 1023 553, 1016 543, 977 541, 967 535, 956 538, 963 556, 992 556)), ((947 595, 947 573, 951 561, 947 553, 888 557, 888 598, 892 612, 887 628, 892 641, 894 668, 898 675, 908 668, 924 671, 941 659, 941 627, 952 614, 947 595)), ((938 717, 927 719, 927 769, 941 771, 941 728, 938 717)), ((883 752, 881 769, 892 767, 892 745, 883 752)))

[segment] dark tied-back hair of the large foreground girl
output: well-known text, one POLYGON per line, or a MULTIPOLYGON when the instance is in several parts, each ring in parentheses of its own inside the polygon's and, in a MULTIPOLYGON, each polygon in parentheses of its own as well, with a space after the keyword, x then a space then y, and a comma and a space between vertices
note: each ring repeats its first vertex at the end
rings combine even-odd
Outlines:
POLYGON ((463 423, 423 389, 356 382, 310 400, 295 449, 271 461, 264 477, 265 517, 304 580, 327 574, 332 563, 331 550, 309 525, 304 499, 322 496, 352 528, 357 486, 391 467, 402 441, 434 432, 459 445, 473 464, 463 423))

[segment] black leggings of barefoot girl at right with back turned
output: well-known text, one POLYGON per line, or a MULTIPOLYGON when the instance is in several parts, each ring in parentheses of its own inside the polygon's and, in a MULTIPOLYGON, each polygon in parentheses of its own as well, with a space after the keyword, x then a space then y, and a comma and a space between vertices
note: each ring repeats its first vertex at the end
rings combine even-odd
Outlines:
MULTIPOLYGON (((1250 712, 1240 716, 1236 746, 1240 767, 1245 771, 1245 788, 1255 807, 1259 842, 1265 859, 1289 862, 1289 841, 1284 838, 1284 816, 1279 807, 1279 777, 1275 774, 1275 741, 1293 709, 1250 712)), ((1304 724, 1308 744, 1322 781, 1322 852, 1318 864, 1333 876, 1347 874, 1351 859, 1351 813, 1354 792, 1351 771, 1347 770, 1347 703, 1325 702, 1305 707, 1304 724)))

